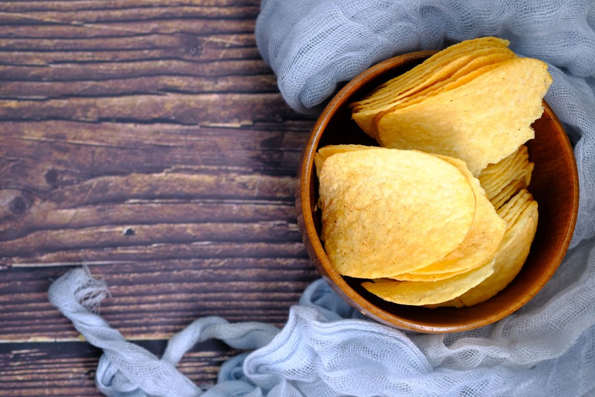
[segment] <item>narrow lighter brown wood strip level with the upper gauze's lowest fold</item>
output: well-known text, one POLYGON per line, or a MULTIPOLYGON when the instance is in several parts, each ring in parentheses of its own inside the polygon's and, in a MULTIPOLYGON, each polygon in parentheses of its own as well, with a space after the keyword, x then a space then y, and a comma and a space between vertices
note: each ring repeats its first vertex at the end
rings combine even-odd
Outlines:
POLYGON ((116 98, 70 98, 47 101, 0 100, 0 120, 73 120, 96 123, 170 122, 186 125, 250 124, 283 120, 293 112, 274 94, 135 95, 116 98), (217 104, 217 105, 213 105, 217 104), (248 112, 250 110, 250 112, 248 112))

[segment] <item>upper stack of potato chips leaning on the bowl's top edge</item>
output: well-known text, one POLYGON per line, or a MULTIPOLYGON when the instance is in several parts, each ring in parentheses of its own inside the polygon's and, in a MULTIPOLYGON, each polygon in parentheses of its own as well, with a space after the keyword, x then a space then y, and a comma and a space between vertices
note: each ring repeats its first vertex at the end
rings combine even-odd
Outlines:
POLYGON ((519 58, 508 40, 482 37, 438 52, 350 105, 381 146, 466 162, 474 176, 534 137, 547 65, 519 58))

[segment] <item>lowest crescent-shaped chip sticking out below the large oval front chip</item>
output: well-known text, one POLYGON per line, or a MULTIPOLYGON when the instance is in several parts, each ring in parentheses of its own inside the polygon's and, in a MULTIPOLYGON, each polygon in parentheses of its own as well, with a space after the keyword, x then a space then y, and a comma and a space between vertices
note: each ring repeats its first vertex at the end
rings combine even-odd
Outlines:
POLYGON ((428 305, 449 301, 480 284, 494 273, 494 261, 458 276, 436 282, 374 280, 362 287, 385 301, 402 305, 428 305))

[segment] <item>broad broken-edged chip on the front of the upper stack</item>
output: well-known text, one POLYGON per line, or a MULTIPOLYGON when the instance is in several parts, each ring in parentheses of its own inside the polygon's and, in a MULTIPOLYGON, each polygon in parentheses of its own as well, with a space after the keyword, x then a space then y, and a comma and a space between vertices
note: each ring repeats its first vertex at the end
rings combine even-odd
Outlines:
POLYGON ((460 158, 478 175, 534 137, 530 125, 543 112, 541 98, 551 82, 544 62, 513 58, 461 86, 388 112, 378 121, 378 139, 389 148, 460 158), (502 81, 506 89, 494 90, 502 81))

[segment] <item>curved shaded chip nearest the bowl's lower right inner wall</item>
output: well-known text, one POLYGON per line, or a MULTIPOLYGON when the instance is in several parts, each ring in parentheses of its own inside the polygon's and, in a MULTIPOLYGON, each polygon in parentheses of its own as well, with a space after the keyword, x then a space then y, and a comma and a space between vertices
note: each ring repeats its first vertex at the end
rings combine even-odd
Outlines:
POLYGON ((494 273, 480 285, 468 290, 463 295, 431 307, 473 306, 487 301, 487 299, 505 289, 521 271, 522 265, 527 260, 531 242, 533 242, 533 237, 537 231, 537 218, 537 202, 533 201, 522 212, 521 217, 513 224, 511 229, 506 232, 495 257, 494 273))

